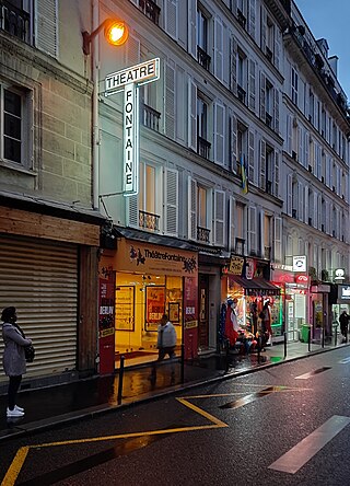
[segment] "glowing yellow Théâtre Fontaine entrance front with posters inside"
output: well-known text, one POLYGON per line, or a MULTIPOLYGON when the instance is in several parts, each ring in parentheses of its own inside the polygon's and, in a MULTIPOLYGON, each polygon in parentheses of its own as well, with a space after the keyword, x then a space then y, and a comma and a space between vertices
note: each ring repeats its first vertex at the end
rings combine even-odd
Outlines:
POLYGON ((187 328, 197 327, 197 253, 121 238, 104 250, 101 274, 115 275, 116 357, 155 358, 158 326, 165 313, 176 328, 178 350, 187 328))

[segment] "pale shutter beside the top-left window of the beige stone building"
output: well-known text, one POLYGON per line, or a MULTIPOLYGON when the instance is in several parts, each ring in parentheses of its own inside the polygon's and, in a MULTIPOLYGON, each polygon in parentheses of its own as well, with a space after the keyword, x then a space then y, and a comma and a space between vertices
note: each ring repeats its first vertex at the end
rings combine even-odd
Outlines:
POLYGON ((44 53, 58 56, 58 2, 35 0, 35 43, 44 53))

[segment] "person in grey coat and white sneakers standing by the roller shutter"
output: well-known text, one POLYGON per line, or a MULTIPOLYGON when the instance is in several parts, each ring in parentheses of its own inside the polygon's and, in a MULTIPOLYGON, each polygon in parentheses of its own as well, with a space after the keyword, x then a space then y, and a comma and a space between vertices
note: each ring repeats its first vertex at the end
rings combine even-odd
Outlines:
POLYGON ((4 351, 2 357, 3 370, 9 377, 8 389, 8 417, 23 417, 24 409, 15 404, 16 394, 22 381, 22 375, 26 371, 24 347, 32 344, 31 339, 23 337, 20 327, 16 325, 15 308, 3 309, 1 313, 2 338, 4 351))

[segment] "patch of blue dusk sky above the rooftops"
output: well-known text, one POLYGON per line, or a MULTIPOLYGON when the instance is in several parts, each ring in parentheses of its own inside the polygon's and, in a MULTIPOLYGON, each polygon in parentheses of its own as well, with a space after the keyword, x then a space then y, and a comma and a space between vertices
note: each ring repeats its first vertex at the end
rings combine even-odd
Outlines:
POLYGON ((294 1, 314 37, 327 39, 329 57, 338 56, 338 80, 350 102, 350 1, 294 1))

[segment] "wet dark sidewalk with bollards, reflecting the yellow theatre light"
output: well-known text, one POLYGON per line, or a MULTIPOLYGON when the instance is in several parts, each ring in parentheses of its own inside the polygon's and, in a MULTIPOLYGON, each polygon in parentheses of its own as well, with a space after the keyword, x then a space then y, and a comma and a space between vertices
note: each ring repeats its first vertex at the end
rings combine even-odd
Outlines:
MULTIPOLYGON (((338 340, 338 346, 345 346, 338 340)), ((318 344, 290 343, 284 359, 284 345, 277 344, 257 354, 201 357, 182 367, 178 360, 164 360, 156 366, 156 379, 152 364, 125 368, 121 400, 118 401, 119 370, 115 375, 94 377, 67 384, 22 391, 18 404, 25 408, 25 416, 7 419, 7 395, 0 395, 0 441, 31 435, 83 417, 93 417, 136 402, 148 401, 195 386, 205 382, 222 380, 261 369, 261 367, 335 349, 334 343, 322 348, 318 344), (119 402, 119 403, 118 403, 119 402), (121 402, 121 403, 120 403, 121 402)), ((120 398, 120 394, 119 394, 120 398)))

